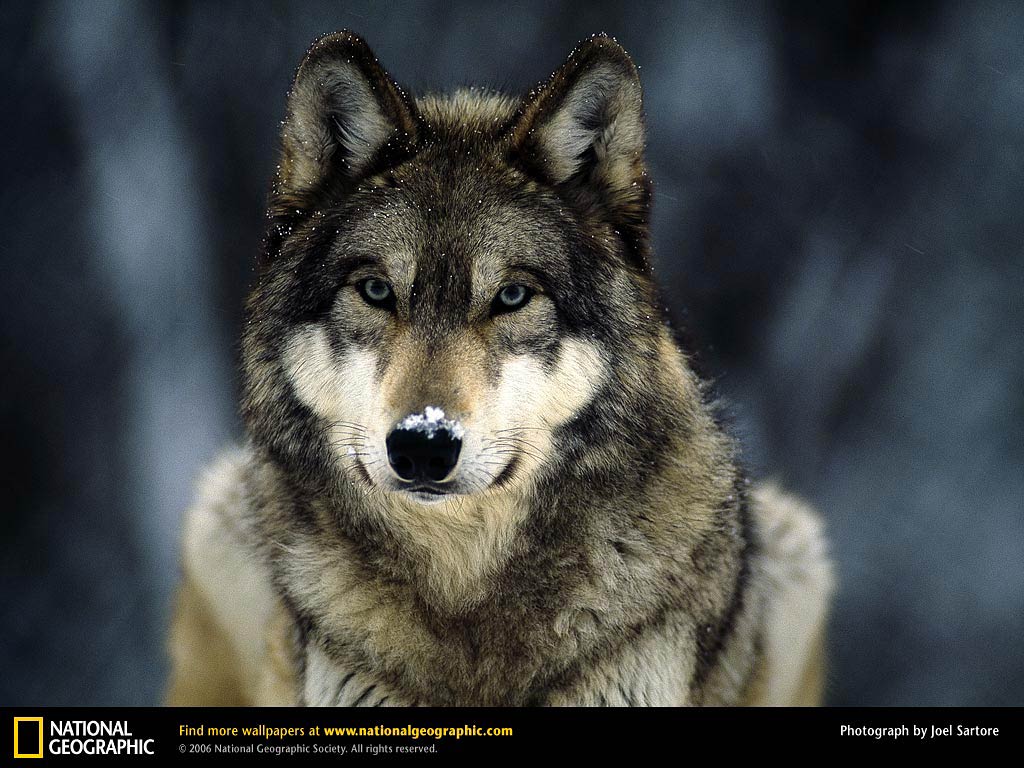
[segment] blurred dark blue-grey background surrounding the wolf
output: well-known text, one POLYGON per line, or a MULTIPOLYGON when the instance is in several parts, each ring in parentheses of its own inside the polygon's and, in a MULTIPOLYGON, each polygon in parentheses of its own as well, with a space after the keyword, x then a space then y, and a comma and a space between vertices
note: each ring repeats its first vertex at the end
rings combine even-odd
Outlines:
POLYGON ((668 297, 823 510, 835 705, 1024 705, 1024 6, 7 2, 0 703, 159 701, 193 483, 310 41, 521 91, 641 68, 668 297))

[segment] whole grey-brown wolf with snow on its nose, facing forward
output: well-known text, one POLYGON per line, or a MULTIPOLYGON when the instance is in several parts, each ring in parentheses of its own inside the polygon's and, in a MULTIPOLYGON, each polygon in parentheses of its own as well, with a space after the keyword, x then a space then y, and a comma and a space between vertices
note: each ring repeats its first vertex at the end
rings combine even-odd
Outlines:
POLYGON ((637 68, 288 95, 247 440, 187 514, 172 705, 811 705, 833 565, 752 485, 651 271, 637 68))

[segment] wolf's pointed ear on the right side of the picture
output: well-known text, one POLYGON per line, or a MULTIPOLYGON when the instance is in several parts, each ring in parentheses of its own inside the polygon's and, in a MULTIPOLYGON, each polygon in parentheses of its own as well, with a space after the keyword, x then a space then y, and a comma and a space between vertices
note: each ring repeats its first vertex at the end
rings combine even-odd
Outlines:
POLYGON ((637 68, 618 43, 598 35, 527 97, 512 145, 549 183, 599 203, 615 223, 644 225, 644 136, 637 68))

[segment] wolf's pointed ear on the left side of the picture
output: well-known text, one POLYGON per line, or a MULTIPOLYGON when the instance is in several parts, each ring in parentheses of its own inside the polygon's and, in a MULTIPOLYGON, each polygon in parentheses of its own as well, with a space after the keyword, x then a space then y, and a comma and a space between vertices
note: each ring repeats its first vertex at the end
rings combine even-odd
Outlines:
POLYGON ((288 96, 275 195, 301 198, 336 178, 358 179, 412 152, 412 102, 357 35, 327 35, 309 48, 288 96))

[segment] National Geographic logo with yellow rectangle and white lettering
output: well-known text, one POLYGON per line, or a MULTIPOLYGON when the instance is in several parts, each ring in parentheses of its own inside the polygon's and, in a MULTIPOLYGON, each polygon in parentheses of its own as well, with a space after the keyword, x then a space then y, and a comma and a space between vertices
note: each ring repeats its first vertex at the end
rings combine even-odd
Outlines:
POLYGON ((154 739, 135 738, 127 720, 50 720, 49 740, 42 718, 14 718, 14 757, 56 755, 156 755, 154 739))

